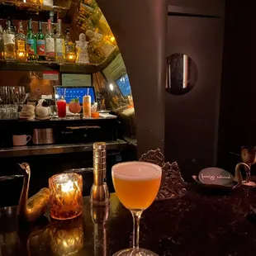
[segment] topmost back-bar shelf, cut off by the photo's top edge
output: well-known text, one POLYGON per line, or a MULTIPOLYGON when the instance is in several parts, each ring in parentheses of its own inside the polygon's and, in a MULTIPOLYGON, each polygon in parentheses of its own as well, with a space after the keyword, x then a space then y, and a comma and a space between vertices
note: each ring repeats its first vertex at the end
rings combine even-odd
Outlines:
POLYGON ((64 11, 69 10, 71 1, 57 1, 58 5, 52 0, 0 0, 0 3, 8 6, 16 6, 30 11, 64 11))

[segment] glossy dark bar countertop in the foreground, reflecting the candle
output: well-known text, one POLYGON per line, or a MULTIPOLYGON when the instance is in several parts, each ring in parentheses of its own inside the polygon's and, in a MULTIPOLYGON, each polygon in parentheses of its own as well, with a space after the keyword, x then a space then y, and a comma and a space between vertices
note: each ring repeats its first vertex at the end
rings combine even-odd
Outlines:
MULTIPOLYGON (((247 214, 256 190, 210 193, 196 184, 183 198, 155 201, 142 216, 140 246, 159 256, 250 256, 256 251, 256 225, 247 214)), ((95 221, 89 197, 83 217, 18 226, 16 207, 0 209, 0 255, 112 255, 132 245, 132 217, 111 194, 108 220, 95 221), (92 216, 94 222, 92 221, 92 216), (96 223, 97 222, 97 223, 96 223)), ((255 222, 256 223, 256 222, 255 222)))

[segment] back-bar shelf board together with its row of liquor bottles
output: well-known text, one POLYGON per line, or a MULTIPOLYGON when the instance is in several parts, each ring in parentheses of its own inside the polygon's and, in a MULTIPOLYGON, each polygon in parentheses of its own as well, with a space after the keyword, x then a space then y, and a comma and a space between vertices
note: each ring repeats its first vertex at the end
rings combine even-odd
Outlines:
MULTIPOLYGON (((79 50, 71 40, 69 28, 62 32, 59 19, 57 30, 53 31, 48 20, 47 32, 42 31, 42 22, 38 21, 37 32, 34 32, 32 21, 27 21, 27 31, 19 21, 17 29, 12 21, 7 21, 3 30, 0 25, 0 66, 2 70, 49 70, 49 68, 68 72, 97 72, 100 64, 78 62, 79 50), (34 66, 33 66, 34 65, 34 66), (65 67, 64 67, 65 66, 65 67), (76 69, 78 68, 78 69, 76 69)), ((81 59, 81 56, 80 56, 81 59)))

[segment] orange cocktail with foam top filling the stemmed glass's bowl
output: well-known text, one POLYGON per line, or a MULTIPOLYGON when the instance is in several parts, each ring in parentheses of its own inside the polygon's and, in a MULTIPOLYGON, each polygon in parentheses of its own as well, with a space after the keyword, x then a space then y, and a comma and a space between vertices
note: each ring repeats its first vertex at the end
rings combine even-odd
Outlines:
POLYGON ((145 210, 154 201, 161 183, 159 166, 145 162, 116 164, 112 178, 116 194, 126 208, 145 210))

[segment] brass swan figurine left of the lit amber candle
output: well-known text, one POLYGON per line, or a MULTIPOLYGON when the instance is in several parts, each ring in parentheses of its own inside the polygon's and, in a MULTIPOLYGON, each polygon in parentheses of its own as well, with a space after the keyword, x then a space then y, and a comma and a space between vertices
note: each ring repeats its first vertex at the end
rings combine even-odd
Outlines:
POLYGON ((45 214, 50 201, 50 190, 44 187, 36 195, 27 199, 29 183, 31 178, 31 168, 29 164, 19 164, 23 174, 23 186, 19 205, 17 207, 18 220, 32 222, 45 214))

